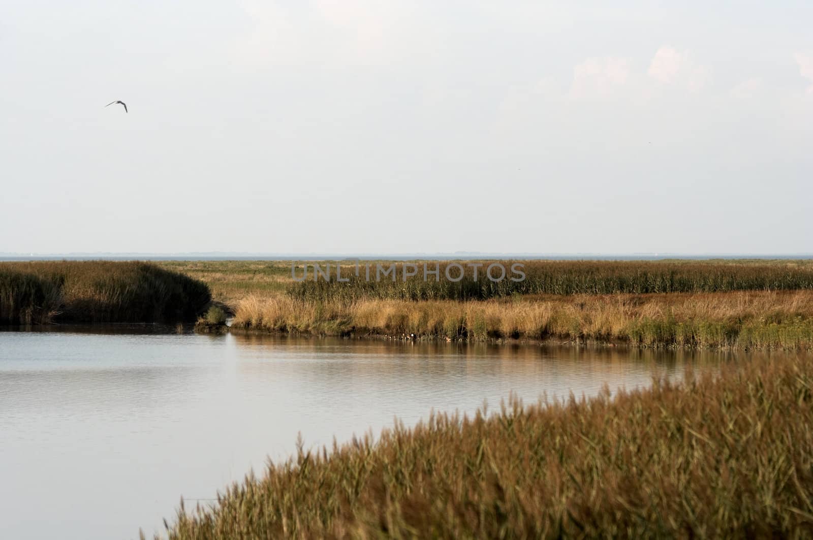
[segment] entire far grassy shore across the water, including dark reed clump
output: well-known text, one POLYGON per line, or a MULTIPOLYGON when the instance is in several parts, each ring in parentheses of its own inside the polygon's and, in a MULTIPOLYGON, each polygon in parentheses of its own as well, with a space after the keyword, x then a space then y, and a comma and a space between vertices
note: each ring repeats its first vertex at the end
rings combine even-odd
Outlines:
POLYGON ((263 333, 813 349, 811 261, 522 261, 527 280, 505 286, 483 277, 487 263, 460 261, 467 278, 446 284, 354 279, 347 262, 348 282, 293 281, 289 261, 2 263, 0 324, 194 320, 211 299, 200 331, 234 316, 233 329, 263 333))

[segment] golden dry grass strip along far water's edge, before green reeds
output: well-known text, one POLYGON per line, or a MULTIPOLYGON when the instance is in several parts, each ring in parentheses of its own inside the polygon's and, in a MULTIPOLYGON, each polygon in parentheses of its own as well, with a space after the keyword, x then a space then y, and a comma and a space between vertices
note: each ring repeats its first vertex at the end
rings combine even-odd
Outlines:
POLYGON ((813 291, 525 296, 459 302, 254 297, 233 327, 321 335, 484 341, 628 342, 640 346, 813 348, 813 291))

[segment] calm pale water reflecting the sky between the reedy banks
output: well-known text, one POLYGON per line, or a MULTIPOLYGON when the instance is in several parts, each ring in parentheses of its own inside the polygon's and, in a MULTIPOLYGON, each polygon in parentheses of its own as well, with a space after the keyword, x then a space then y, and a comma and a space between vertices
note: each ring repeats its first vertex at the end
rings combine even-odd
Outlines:
POLYGON ((0 538, 137 538, 268 457, 720 357, 236 335, 0 332, 0 538))

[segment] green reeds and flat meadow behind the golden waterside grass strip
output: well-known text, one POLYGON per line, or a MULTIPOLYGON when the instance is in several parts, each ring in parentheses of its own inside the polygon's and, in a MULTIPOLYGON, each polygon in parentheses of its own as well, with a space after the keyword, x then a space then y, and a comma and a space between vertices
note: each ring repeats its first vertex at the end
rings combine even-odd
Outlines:
MULTIPOLYGON (((763 259, 715 259, 715 260, 662 260, 662 261, 458 261, 467 268, 467 277, 455 284, 441 278, 440 283, 423 285, 423 264, 433 269, 437 263, 441 276, 446 265, 452 261, 411 261, 417 264, 419 275, 402 281, 402 267, 396 263, 398 279, 375 281, 376 264, 385 267, 391 261, 361 261, 360 276, 364 264, 371 265, 372 282, 355 277, 355 264, 349 261, 307 261, 308 278, 304 283, 293 281, 295 274, 302 277, 303 261, 161 261, 162 268, 182 272, 209 285, 215 301, 235 307, 242 299, 273 297, 288 292, 294 298, 307 300, 358 300, 358 299, 484 299, 502 298, 516 294, 615 294, 615 293, 663 293, 663 292, 717 292, 726 290, 793 290, 810 289, 813 286, 813 263, 810 260, 763 260, 763 259), (489 263, 500 262, 506 266, 508 276, 512 263, 525 265, 524 283, 505 282, 493 285, 483 272, 489 263), (478 281, 473 281, 473 269, 467 264, 480 263, 478 281), (332 281, 313 283, 313 265, 320 264, 332 269, 332 281), (341 264, 342 277, 348 283, 336 282, 336 265, 341 264)), ((456 274, 455 274, 456 276, 456 274)))

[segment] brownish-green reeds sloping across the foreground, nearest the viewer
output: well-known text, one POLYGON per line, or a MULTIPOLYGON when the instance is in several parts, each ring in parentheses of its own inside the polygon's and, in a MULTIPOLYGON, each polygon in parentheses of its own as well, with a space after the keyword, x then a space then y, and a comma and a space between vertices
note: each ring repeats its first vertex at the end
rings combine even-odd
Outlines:
POLYGON ((813 357, 306 451, 185 509, 173 540, 806 538, 813 357))

